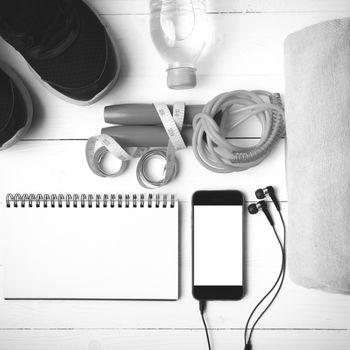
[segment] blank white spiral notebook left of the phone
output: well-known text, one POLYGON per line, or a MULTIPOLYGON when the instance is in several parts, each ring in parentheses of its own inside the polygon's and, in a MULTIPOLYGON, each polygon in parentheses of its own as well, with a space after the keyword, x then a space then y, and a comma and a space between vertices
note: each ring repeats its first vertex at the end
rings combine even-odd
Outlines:
POLYGON ((178 202, 7 195, 5 299, 178 299, 178 202))

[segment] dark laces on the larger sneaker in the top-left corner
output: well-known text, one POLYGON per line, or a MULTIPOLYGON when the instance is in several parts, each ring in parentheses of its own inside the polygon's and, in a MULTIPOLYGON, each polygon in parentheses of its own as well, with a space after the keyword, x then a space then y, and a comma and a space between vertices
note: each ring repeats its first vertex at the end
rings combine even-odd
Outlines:
POLYGON ((45 53, 60 44, 69 34, 75 11, 71 0, 36 1, 25 11, 14 9, 2 15, 0 32, 25 51, 45 53))

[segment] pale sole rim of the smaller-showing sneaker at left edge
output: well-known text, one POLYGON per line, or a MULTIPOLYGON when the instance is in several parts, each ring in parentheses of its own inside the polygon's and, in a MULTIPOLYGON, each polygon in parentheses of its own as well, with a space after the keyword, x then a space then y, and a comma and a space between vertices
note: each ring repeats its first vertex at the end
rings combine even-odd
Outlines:
POLYGON ((17 141, 19 141, 28 131, 32 120, 33 120, 33 101, 29 94, 28 89, 23 83, 23 80, 19 77, 19 75, 10 68, 6 63, 0 61, 0 69, 2 69, 13 81, 13 83, 16 85, 18 90, 20 91, 22 98, 24 100, 24 104, 27 111, 27 121, 23 128, 19 129, 16 134, 8 141, 6 141, 1 147, 0 151, 3 151, 9 147, 11 147, 13 144, 15 144, 17 141))

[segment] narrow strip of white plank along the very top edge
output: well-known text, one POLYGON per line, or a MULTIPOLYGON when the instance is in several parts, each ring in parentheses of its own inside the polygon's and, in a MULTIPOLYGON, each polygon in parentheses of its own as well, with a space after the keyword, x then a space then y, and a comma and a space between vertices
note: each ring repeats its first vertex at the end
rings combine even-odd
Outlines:
MULTIPOLYGON (((90 0, 101 14, 145 14, 149 1, 143 0, 90 0)), ((347 0, 207 0, 210 13, 256 12, 334 12, 350 11, 347 0)))

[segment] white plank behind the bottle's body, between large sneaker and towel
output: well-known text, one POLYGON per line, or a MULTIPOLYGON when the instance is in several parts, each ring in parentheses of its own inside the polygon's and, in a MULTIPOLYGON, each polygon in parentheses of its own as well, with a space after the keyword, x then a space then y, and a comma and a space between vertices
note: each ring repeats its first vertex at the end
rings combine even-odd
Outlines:
MULTIPOLYGON (((207 46, 197 64, 198 74, 283 75, 283 44, 287 35, 347 15, 347 12, 209 15, 207 46)), ((147 15, 103 18, 122 52, 126 65, 122 76, 164 76, 167 65, 153 46, 147 15)))

